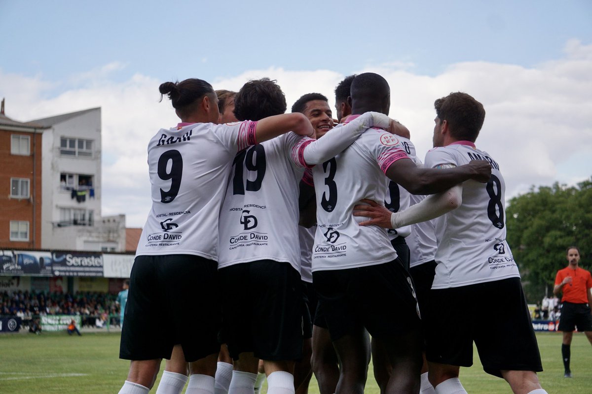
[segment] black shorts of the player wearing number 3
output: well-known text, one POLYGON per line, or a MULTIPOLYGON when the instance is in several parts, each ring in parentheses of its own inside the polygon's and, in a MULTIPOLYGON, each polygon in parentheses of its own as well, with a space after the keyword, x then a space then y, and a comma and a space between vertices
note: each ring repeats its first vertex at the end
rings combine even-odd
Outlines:
POLYGON ((419 330, 413 281, 400 259, 313 272, 314 289, 333 341, 366 328, 373 337, 419 330))

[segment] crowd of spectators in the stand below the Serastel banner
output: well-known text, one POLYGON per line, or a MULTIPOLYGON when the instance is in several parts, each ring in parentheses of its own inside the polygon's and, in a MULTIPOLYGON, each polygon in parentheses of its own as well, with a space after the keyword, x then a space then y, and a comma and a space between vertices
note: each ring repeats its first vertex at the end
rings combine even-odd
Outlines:
POLYGON ((117 295, 98 292, 0 292, 0 316, 17 316, 23 328, 38 325, 43 315, 80 315, 82 327, 119 325, 117 295))

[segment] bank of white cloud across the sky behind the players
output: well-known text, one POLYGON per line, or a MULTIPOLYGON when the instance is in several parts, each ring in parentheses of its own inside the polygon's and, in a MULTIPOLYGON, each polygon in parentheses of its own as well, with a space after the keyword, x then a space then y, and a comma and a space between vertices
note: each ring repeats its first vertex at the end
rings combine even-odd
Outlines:
MULTIPOLYGON (((563 59, 533 68, 484 62, 452 64, 435 77, 414 74, 412 67, 399 63, 355 73, 374 71, 388 80, 391 116, 410 129, 421 158, 432 144, 437 97, 463 91, 484 103, 487 116, 477 145, 500 164, 506 197, 512 197, 533 184, 572 184, 592 175, 592 45, 571 40, 565 45, 565 54, 563 59), (588 161, 570 161, 573 155, 588 161), (574 175, 583 172, 587 172, 584 178, 574 175)), ((81 86, 57 96, 50 96, 50 92, 59 82, 0 70, 0 96, 7 98, 7 116, 18 121, 100 106, 102 211, 126 213, 127 225, 137 227, 143 226, 150 209, 147 142, 158 128, 175 125, 178 119, 166 97, 158 102, 157 89, 164 81, 137 74, 123 83, 111 82, 111 71, 121 67, 120 63, 99 67, 77 80, 81 86)), ((269 77, 278 80, 284 90, 288 111, 298 97, 310 92, 323 93, 333 106, 333 89, 345 76, 330 68, 293 71, 269 67, 211 82, 214 89, 239 90, 249 79, 269 77)))

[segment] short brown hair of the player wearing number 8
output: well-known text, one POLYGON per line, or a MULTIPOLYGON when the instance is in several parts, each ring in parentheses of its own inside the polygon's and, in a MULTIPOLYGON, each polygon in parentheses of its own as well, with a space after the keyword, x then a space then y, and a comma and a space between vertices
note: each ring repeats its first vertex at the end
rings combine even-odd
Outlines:
POLYGON ((474 97, 453 92, 434 102, 440 122, 448 122, 451 135, 459 141, 475 142, 485 121, 485 109, 474 97))

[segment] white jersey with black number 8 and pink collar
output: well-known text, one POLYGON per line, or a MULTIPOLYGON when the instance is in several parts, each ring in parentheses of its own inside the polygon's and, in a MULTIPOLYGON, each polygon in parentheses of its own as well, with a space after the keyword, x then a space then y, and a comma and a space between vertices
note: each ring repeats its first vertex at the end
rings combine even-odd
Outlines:
POLYGON ((434 148, 426 154, 426 167, 442 168, 487 160, 487 184, 462 184, 462 204, 436 219, 436 276, 433 289, 449 288, 520 277, 506 242, 506 184, 500 166, 472 142, 434 148))

